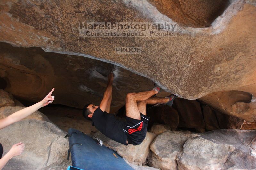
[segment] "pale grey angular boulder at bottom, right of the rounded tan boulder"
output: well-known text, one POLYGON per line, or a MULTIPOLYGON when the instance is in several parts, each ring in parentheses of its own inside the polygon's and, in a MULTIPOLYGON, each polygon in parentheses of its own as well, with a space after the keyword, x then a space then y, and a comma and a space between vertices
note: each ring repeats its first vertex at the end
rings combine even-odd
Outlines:
POLYGON ((177 156, 179 169, 221 169, 235 147, 201 137, 189 139, 177 156))

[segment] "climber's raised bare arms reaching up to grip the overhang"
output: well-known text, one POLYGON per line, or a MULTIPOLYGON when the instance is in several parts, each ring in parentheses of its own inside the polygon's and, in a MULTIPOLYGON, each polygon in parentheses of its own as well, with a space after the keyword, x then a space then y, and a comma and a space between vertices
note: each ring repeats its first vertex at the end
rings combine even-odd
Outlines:
MULTIPOLYGON (((107 107, 108 107, 108 104, 110 105, 111 101, 109 102, 109 100, 111 99, 111 96, 112 96, 112 83, 113 83, 113 74, 110 73, 108 75, 108 86, 104 92, 104 95, 103 95, 103 99, 100 103, 100 109, 104 112, 106 111, 107 112, 107 107)), ((110 109, 110 107, 109 107, 110 109)))

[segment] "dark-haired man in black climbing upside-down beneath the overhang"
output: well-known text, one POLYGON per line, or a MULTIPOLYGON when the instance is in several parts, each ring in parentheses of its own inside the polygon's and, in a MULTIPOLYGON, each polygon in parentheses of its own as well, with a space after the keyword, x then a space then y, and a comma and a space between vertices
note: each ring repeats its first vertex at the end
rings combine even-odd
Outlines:
POLYGON ((128 93, 126 95, 126 122, 116 119, 113 114, 109 114, 112 100, 112 82, 113 74, 108 75, 108 86, 104 92, 100 106, 87 104, 83 109, 83 116, 92 120, 101 133, 110 139, 121 144, 140 144, 146 137, 149 117, 146 114, 146 105, 155 105, 165 103, 172 105, 176 96, 170 95, 166 98, 152 97, 160 91, 160 87, 155 85, 154 88, 146 92, 128 93))

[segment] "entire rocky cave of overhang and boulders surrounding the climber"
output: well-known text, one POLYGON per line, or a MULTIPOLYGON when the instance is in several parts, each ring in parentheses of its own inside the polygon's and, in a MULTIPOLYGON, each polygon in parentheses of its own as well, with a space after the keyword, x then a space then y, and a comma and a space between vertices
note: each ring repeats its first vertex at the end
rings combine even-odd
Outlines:
POLYGON ((95 135, 134 169, 256 169, 256 1, 0 1, 0 119, 55 100, 0 130, 4 169, 66 169, 70 127, 95 135), (175 37, 80 37, 79 22, 175 22, 175 37), (141 47, 118 54, 115 47, 141 47), (172 105, 147 105, 142 144, 125 146, 82 116, 100 104, 114 68, 110 113, 130 92, 161 86, 172 105), (21 131, 21 132, 20 132, 21 131), (44 142, 42 142, 44 141, 44 142), (6 149, 5 149, 6 148, 6 149))

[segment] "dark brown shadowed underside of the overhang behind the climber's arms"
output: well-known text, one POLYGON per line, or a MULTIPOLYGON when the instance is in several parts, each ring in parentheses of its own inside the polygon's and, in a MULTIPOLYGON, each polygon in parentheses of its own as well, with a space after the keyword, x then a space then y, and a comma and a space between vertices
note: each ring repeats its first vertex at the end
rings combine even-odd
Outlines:
MULTIPOLYGON (((47 53, 36 47, 13 48, 0 43, 0 76, 11 84, 6 91, 23 100, 38 102, 55 87, 54 104, 77 108, 88 103, 100 104, 112 64, 82 56, 47 53)), ((114 74, 113 111, 125 104, 128 92, 154 86, 149 79, 118 66, 114 74)))

